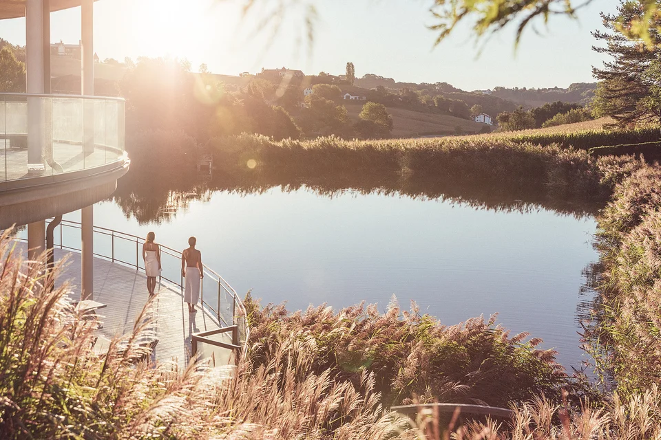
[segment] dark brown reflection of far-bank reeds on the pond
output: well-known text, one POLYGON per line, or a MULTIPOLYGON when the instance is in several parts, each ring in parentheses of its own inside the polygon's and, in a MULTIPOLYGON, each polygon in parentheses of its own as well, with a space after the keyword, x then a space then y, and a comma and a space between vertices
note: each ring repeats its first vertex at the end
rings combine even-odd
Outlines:
POLYGON ((129 175, 120 179, 114 201, 127 217, 133 216, 139 223, 160 223, 171 219, 176 212, 185 210, 191 200, 209 200, 216 191, 249 195, 262 194, 272 188, 280 188, 284 192, 311 190, 322 197, 337 197, 350 191, 361 195, 439 200, 497 212, 535 212, 547 209, 579 219, 593 216, 602 208, 602 203, 597 202, 552 199, 540 190, 512 190, 485 186, 479 182, 473 185, 454 185, 446 181, 412 181, 360 173, 339 175, 333 179, 323 176, 288 179, 255 173, 240 177, 220 175, 210 181, 202 175, 192 175, 186 184, 176 185, 171 185, 167 179, 145 179, 129 175))

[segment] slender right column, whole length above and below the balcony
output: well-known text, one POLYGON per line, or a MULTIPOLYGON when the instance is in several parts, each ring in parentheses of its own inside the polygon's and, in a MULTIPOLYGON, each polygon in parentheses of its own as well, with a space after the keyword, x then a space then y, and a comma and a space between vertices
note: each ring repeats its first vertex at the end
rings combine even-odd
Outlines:
MULTIPOLYGON (((83 95, 94 95, 94 0, 81 3, 83 56, 81 84, 83 95)), ((83 100, 83 151, 94 152, 94 107, 91 100, 83 100)), ((94 298, 94 206, 81 210, 82 242, 82 299, 94 298)))

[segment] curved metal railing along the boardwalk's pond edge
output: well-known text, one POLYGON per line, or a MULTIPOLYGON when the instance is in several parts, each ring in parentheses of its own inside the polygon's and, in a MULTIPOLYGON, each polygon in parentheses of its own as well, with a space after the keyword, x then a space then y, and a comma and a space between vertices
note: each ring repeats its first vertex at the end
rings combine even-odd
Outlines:
MULTIPOLYGON (((52 219, 47 219, 46 222, 50 223, 52 219)), ((72 252, 81 252, 80 249, 76 248, 75 246, 70 246, 70 245, 65 245, 64 243, 64 236, 63 236, 63 228, 68 227, 68 228, 74 228, 74 229, 81 229, 82 224, 78 221, 71 221, 71 220, 62 220, 59 225, 56 227, 59 227, 59 244, 56 244, 56 248, 60 248, 61 250, 68 250, 72 252)), ((144 267, 140 266, 140 245, 142 245, 145 242, 145 239, 143 237, 134 235, 134 234, 128 234, 127 232, 121 232, 117 230, 112 230, 109 228, 103 228, 101 226, 94 226, 94 233, 96 234, 101 234, 105 236, 109 236, 111 238, 111 247, 110 247, 110 255, 106 255, 103 253, 96 252, 98 250, 98 247, 95 246, 95 252, 94 256, 100 257, 102 259, 107 259, 111 261, 112 263, 120 263, 123 265, 127 265, 129 267, 133 267, 136 270, 144 270, 144 267), (118 256, 115 254, 115 239, 121 239, 125 241, 129 241, 130 243, 135 243, 136 245, 136 263, 132 263, 131 261, 125 261, 123 259, 120 259, 118 256)), ((24 239, 19 239, 21 241, 25 241, 24 239)), ((169 256, 174 256, 177 259, 181 259, 181 252, 178 250, 175 250, 173 248, 169 248, 168 246, 161 245, 159 244, 161 254, 165 253, 169 256)), ((218 325, 221 327, 224 325, 225 327, 230 327, 230 326, 238 326, 241 327, 243 330, 243 338, 240 342, 240 345, 242 345, 242 351, 243 353, 246 353, 247 351, 247 340, 250 336, 250 329, 249 326, 247 325, 247 311, 246 307, 243 304, 243 301, 241 298, 238 296, 236 291, 227 283, 227 281, 222 278, 216 271, 212 270, 209 266, 205 265, 202 263, 202 270, 204 270, 204 274, 208 275, 211 280, 213 280, 215 283, 218 283, 218 303, 217 303, 217 309, 213 307, 213 305, 209 304, 208 302, 204 301, 204 283, 200 283, 200 303, 202 304, 202 307, 207 307, 207 309, 211 312, 213 312, 213 316, 215 316, 218 319, 218 325), (221 291, 225 292, 231 297, 232 300, 232 322, 228 323, 224 320, 222 314, 220 313, 220 294, 221 291), (244 322, 240 323, 238 318, 241 316, 244 317, 244 322)), ((179 271, 181 272, 181 271, 179 271)), ((181 274, 181 273, 180 273, 181 274)), ((183 292, 184 289, 184 283, 183 283, 183 277, 180 276, 179 281, 177 280, 171 280, 167 278, 166 276, 160 276, 160 278, 165 279, 165 281, 168 281, 169 283, 172 283, 179 287, 181 291, 183 292)))

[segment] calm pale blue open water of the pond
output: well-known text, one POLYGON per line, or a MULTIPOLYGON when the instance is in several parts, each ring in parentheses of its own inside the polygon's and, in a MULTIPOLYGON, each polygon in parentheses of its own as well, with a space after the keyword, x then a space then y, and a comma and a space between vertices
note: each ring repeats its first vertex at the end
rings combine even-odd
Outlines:
MULTIPOLYGON (((65 218, 78 220, 79 213, 65 218)), ((185 248, 198 237, 204 263, 237 292, 288 309, 366 300, 385 309, 392 295, 446 325, 499 313, 512 334, 529 331, 558 360, 579 366, 576 307, 584 267, 598 260, 594 219, 550 210, 494 212, 437 200, 311 190, 191 201, 160 225, 126 219, 99 203, 94 223, 185 248)))

